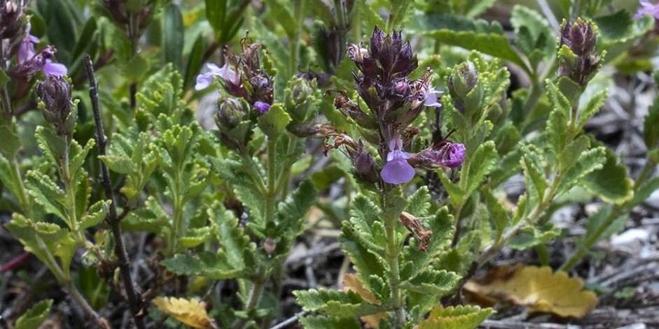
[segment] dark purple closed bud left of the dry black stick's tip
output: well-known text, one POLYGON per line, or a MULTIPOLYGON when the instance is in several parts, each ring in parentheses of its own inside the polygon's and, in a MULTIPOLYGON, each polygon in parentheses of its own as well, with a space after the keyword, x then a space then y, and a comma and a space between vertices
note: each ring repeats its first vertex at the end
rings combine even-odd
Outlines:
POLYGON ((69 82, 61 76, 48 75, 36 86, 36 94, 43 103, 40 108, 46 121, 55 127, 57 133, 70 133, 77 115, 71 113, 73 103, 69 82))

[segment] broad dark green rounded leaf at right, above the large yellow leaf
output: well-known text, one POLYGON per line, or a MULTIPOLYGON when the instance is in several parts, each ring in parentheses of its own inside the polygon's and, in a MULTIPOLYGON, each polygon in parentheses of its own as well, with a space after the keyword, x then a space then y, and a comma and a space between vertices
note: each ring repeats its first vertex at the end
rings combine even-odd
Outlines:
POLYGON ((627 177, 627 168, 618 163, 616 154, 606 149, 606 162, 579 180, 579 185, 610 203, 625 203, 634 197, 634 181, 627 177))

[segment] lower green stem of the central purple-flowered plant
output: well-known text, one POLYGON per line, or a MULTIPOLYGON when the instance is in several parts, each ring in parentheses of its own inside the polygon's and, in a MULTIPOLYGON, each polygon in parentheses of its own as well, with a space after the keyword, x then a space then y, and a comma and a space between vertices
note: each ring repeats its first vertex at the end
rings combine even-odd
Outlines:
POLYGON ((387 234, 387 263, 389 264, 389 286, 391 288, 391 307, 394 308, 394 328, 403 328, 405 326, 405 309, 403 305, 403 295, 401 293, 401 273, 398 264, 398 254, 400 247, 396 241, 396 225, 398 224, 398 214, 389 214, 387 209, 387 197, 391 195, 390 191, 383 191, 381 198, 381 207, 384 218, 384 226, 387 234))

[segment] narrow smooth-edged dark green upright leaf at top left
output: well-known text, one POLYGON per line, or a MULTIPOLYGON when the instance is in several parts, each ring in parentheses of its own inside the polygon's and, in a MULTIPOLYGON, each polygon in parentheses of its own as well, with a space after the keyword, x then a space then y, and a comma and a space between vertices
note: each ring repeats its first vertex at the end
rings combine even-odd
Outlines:
POLYGON ((184 43, 183 15, 181 14, 181 8, 174 3, 167 6, 164 30, 165 61, 174 64, 174 67, 182 71, 184 43))

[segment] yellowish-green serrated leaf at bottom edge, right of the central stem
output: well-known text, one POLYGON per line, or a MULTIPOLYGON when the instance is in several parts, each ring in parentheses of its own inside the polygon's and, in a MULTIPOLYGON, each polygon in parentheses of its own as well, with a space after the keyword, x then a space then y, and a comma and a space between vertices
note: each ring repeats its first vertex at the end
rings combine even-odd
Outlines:
POLYGON ((494 314, 494 309, 481 309, 478 306, 446 307, 438 305, 430 312, 428 319, 419 321, 415 329, 466 329, 476 328, 488 316, 494 314))

